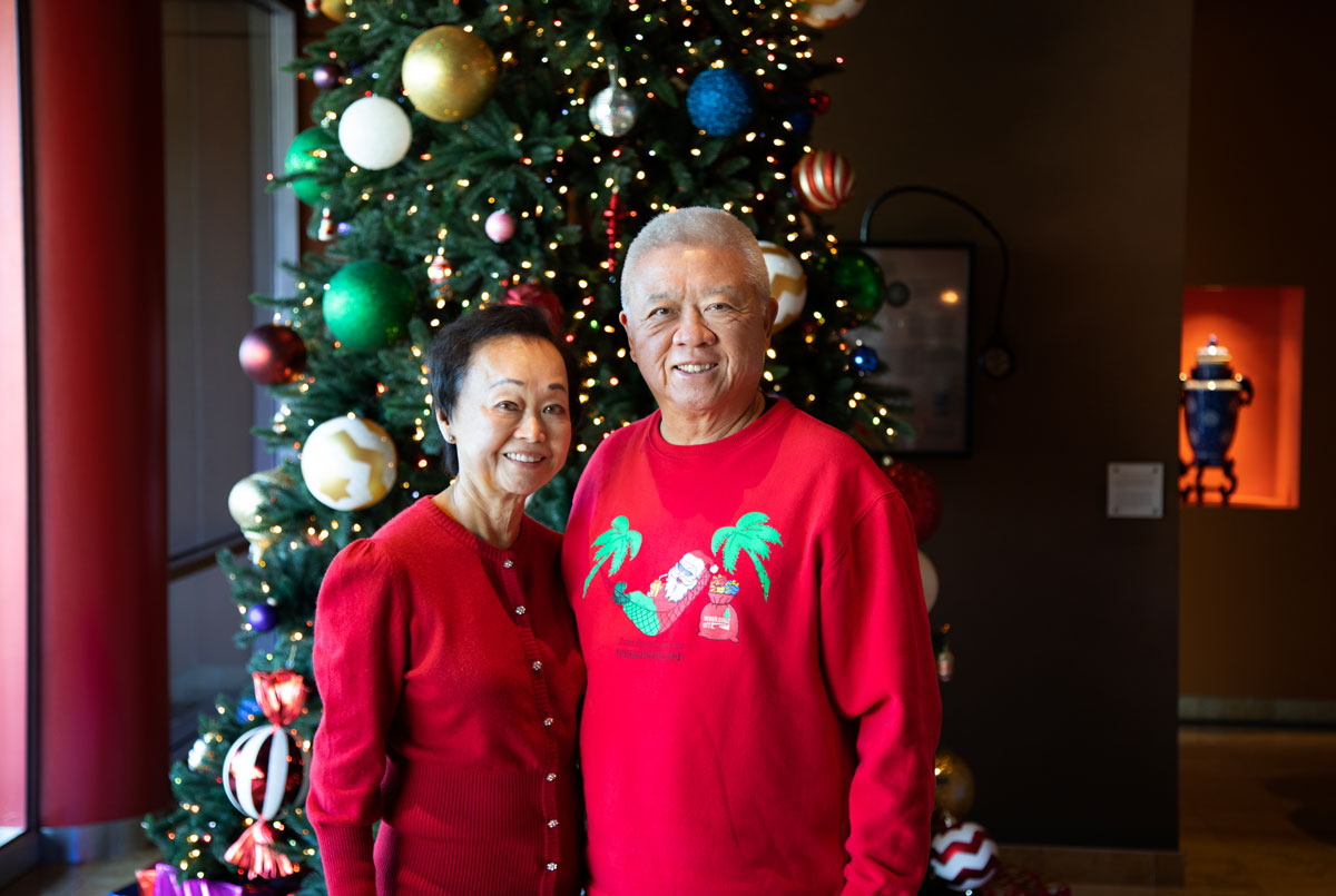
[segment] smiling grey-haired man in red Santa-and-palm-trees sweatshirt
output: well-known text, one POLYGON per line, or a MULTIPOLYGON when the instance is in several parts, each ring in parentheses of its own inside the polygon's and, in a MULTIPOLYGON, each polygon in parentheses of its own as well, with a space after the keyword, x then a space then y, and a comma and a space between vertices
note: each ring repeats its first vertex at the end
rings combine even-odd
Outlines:
POLYGON ((652 220, 621 323, 659 411, 576 491, 589 893, 915 893, 941 705, 908 513, 760 390, 776 304, 727 212, 652 220))

